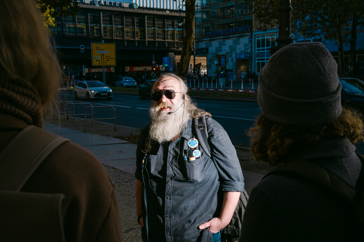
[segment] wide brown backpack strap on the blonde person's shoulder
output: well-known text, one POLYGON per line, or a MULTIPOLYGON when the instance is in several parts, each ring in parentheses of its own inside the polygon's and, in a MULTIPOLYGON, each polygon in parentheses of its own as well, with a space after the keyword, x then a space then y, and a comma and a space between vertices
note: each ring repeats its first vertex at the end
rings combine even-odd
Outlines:
POLYGON ((25 127, 0 154, 0 190, 19 192, 41 162, 67 141, 33 125, 25 127))

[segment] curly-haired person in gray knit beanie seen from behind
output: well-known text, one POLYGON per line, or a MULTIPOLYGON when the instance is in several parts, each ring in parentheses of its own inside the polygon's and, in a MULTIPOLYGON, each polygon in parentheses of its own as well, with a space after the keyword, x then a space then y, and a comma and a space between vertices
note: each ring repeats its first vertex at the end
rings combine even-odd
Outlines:
MULTIPOLYGON (((285 46, 259 74, 262 110, 250 128, 252 155, 279 166, 304 159, 355 189, 363 139, 356 112, 341 107, 337 64, 318 42, 285 46)), ((352 206, 302 177, 273 174, 250 193, 239 241, 355 241, 352 206)))

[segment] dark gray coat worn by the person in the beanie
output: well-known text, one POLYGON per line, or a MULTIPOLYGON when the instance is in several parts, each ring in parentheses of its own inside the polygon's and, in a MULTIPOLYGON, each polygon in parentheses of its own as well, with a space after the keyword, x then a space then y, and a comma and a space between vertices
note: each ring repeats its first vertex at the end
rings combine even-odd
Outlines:
MULTIPOLYGON (((310 160, 355 188, 361 162, 347 138, 318 141, 294 157, 310 160)), ((271 175, 250 193, 239 241, 358 241, 352 206, 309 181, 271 175)))

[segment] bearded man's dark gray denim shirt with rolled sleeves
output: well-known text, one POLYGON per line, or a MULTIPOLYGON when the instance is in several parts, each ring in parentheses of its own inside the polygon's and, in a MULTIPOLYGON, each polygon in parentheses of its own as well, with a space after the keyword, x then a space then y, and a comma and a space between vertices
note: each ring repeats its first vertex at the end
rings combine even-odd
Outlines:
MULTIPOLYGON (((180 138, 173 142, 155 144, 147 154, 142 173, 141 152, 146 128, 138 140, 137 169, 135 177, 143 180, 143 220, 147 217, 149 241, 211 241, 209 229, 198 226, 218 217, 221 212, 222 192, 242 192, 244 178, 236 150, 222 126, 212 118, 206 118, 211 158, 201 148, 201 141, 194 149, 202 155, 196 160, 184 160, 184 150, 191 138, 192 120, 183 129, 180 138), (144 191, 144 190, 143 190, 144 191), (145 216, 147 215, 147 216, 145 216)), ((146 224, 146 223, 145 223, 146 224)))

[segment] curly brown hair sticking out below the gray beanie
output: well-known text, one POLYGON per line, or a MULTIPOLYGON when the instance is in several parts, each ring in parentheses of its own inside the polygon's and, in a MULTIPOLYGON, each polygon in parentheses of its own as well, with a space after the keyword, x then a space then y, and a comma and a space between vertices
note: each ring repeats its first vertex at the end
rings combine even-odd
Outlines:
POLYGON ((355 110, 343 107, 341 115, 328 124, 297 127, 274 123, 262 115, 247 135, 256 160, 278 165, 285 157, 303 151, 321 138, 344 136, 357 143, 364 135, 361 118, 355 110))

